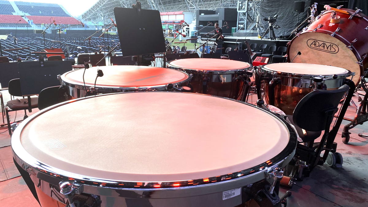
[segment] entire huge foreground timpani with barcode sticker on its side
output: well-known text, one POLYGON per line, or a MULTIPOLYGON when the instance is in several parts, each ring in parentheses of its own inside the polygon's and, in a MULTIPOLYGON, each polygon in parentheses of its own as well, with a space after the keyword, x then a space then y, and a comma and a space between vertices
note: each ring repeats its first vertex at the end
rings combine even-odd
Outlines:
POLYGON ((125 92, 43 109, 15 129, 11 146, 40 200, 54 203, 42 207, 67 199, 102 207, 234 207, 245 202, 247 186, 269 185, 291 160, 296 134, 277 115, 233 99, 125 92), (236 130, 244 126, 252 130, 236 130))

